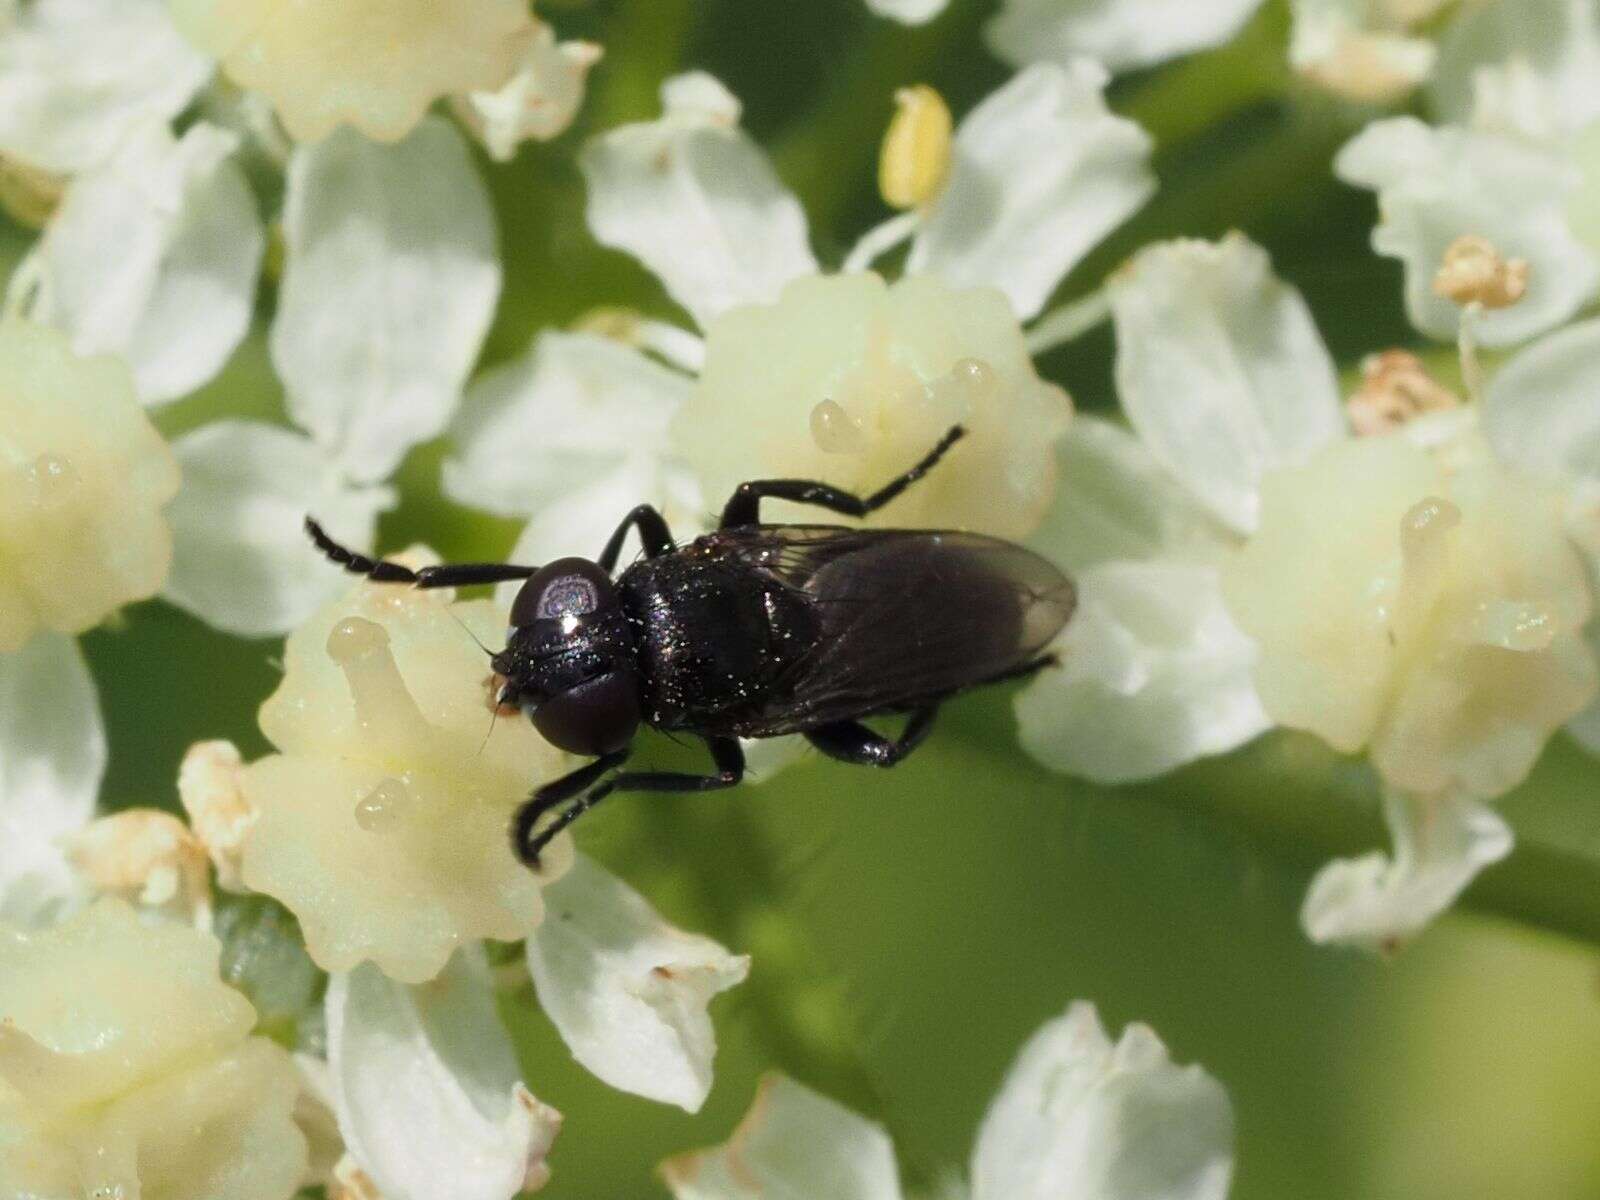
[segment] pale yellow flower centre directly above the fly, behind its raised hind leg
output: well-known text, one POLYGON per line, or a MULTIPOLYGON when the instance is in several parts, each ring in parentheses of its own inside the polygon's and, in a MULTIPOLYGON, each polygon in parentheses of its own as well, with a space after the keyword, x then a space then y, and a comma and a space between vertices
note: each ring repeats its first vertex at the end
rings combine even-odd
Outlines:
MULTIPOLYGON (((966 438, 939 469, 869 523, 1021 538, 1054 493, 1054 442, 1070 416, 1000 291, 864 272, 803 277, 776 304, 717 317, 672 440, 709 498, 766 477, 867 496, 960 424, 966 438)), ((782 502, 763 518, 830 520, 782 502)))

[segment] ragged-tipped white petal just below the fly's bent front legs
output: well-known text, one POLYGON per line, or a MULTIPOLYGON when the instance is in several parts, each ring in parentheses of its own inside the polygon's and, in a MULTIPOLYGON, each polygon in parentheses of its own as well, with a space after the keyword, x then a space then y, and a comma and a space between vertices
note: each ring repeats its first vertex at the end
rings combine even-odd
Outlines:
POLYGON ((750 960, 667 925, 582 856, 546 902, 528 971, 573 1058, 613 1088, 699 1112, 717 1053, 706 1006, 744 981, 750 960))

